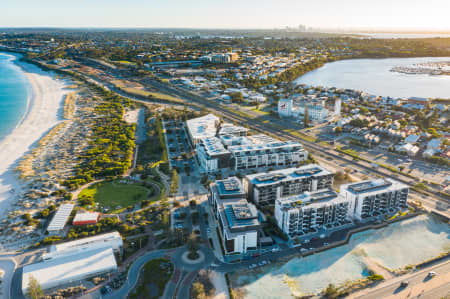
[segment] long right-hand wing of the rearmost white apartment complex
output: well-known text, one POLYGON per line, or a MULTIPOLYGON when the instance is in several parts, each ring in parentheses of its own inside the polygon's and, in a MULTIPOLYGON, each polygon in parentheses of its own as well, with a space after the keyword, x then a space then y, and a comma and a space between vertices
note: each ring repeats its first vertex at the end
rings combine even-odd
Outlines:
POLYGON ((260 134, 242 138, 241 144, 228 146, 234 170, 292 167, 306 161, 308 152, 298 142, 279 141, 260 134))

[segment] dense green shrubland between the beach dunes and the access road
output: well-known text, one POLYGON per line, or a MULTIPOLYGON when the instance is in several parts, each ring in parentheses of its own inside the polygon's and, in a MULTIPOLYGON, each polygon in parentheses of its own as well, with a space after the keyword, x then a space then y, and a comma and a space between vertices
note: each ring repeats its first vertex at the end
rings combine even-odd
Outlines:
POLYGON ((93 135, 89 148, 80 155, 76 174, 63 184, 69 189, 95 179, 124 174, 131 166, 135 147, 135 125, 123 120, 124 104, 120 97, 109 96, 95 107, 93 135))

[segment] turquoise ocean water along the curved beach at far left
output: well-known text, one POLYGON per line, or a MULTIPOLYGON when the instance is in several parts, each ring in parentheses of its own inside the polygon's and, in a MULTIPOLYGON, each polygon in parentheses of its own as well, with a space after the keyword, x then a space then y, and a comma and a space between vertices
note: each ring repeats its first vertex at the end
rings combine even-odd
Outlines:
POLYGON ((0 53, 0 141, 20 123, 31 95, 28 80, 15 59, 18 56, 0 53))

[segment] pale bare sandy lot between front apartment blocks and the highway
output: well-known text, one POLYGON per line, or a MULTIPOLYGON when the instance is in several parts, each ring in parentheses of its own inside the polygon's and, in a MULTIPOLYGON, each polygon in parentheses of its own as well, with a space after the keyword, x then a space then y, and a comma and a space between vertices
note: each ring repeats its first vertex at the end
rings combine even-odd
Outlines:
POLYGON ((355 234, 350 242, 283 265, 232 275, 245 298, 291 298, 318 293, 329 283, 340 284, 367 276, 367 260, 398 269, 450 250, 450 228, 434 217, 420 215, 379 230, 355 234))

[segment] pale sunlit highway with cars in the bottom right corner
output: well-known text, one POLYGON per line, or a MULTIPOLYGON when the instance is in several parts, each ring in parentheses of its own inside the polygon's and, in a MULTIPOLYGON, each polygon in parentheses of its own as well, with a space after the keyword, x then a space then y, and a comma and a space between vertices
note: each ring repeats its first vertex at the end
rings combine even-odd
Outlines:
POLYGON ((444 298, 450 295, 450 261, 427 267, 424 270, 396 277, 379 284, 374 288, 365 289, 349 296, 354 299, 379 298, 444 298), (437 275, 428 277, 428 272, 437 275), (407 287, 400 287, 402 281, 408 281, 407 287))

